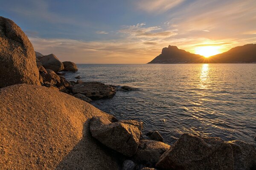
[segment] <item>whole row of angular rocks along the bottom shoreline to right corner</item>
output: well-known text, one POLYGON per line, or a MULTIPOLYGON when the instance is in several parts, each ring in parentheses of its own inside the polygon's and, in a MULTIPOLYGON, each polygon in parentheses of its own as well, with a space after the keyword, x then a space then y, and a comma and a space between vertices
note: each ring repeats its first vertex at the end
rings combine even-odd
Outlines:
POLYGON ((105 146, 128 158, 122 170, 254 170, 256 149, 240 142, 183 134, 172 146, 157 132, 141 139, 143 123, 93 117, 90 132, 105 146), (162 141, 162 142, 161 142, 162 141))

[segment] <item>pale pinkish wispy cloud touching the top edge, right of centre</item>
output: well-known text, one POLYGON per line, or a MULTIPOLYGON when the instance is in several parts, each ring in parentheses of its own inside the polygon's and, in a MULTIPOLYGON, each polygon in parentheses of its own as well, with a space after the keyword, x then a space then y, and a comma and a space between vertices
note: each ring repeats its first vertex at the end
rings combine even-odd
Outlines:
POLYGON ((136 6, 146 12, 163 13, 181 3, 184 0, 138 0, 136 6))

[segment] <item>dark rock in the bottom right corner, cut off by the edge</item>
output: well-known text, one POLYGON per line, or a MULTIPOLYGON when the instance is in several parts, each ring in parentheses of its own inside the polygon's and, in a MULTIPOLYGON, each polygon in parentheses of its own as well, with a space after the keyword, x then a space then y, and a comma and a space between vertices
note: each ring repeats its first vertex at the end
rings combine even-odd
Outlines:
POLYGON ((253 145, 241 141, 228 143, 233 150, 234 170, 256 170, 256 150, 253 145))

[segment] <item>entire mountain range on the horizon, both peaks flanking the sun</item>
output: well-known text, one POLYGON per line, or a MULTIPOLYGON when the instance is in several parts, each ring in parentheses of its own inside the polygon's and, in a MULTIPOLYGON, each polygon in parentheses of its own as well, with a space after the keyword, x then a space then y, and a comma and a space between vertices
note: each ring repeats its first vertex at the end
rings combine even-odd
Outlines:
POLYGON ((227 52, 205 58, 192 54, 176 46, 163 48, 162 53, 148 64, 167 63, 252 63, 256 62, 256 44, 247 44, 230 49, 227 52))

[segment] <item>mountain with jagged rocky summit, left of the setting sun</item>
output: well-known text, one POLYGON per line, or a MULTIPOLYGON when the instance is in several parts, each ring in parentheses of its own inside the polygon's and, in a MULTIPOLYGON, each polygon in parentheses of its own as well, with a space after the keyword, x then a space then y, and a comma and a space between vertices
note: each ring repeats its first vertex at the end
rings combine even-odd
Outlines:
POLYGON ((203 59, 204 57, 201 55, 192 54, 176 46, 169 45, 168 48, 163 48, 162 53, 151 62, 148 62, 148 64, 194 63, 203 59))

